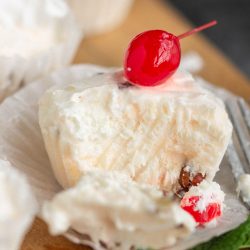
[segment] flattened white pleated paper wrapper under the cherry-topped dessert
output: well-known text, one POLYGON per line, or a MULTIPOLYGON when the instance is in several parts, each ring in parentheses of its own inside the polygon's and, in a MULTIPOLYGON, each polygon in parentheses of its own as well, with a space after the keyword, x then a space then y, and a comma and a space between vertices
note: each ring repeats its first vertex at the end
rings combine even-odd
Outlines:
MULTIPOLYGON (((59 70, 25 87, 7 98, 0 106, 0 158, 7 159, 28 176, 40 205, 62 190, 53 176, 38 125, 40 96, 52 85, 67 85, 109 70, 94 65, 79 65, 59 70)), ((213 90, 217 91, 217 88, 213 90)), ((227 95, 223 90, 219 92, 227 95)), ((179 241, 169 249, 187 249, 237 227, 247 218, 248 210, 237 198, 233 175, 226 158, 220 169, 216 181, 226 193, 226 207, 217 226, 198 228, 190 238, 179 241)), ((67 237, 76 243, 81 243, 79 235, 73 232, 69 232, 67 237)))

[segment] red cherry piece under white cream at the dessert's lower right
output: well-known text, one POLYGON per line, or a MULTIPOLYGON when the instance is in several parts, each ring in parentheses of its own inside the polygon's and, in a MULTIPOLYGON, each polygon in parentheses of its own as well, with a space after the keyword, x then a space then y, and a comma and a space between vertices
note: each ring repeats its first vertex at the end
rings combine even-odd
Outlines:
POLYGON ((184 197, 181 200, 181 207, 190 213, 200 225, 221 216, 221 205, 216 202, 209 203, 205 210, 199 211, 197 203, 200 199, 202 199, 201 196, 184 197))

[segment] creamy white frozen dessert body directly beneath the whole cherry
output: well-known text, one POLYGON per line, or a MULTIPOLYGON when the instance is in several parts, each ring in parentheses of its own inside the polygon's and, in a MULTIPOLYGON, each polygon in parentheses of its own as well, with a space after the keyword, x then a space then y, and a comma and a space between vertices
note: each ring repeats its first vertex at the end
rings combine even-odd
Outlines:
POLYGON ((39 122, 59 182, 100 168, 170 190, 185 165, 211 180, 232 131, 222 102, 189 74, 154 88, 121 89, 122 81, 98 75, 42 97, 39 122))

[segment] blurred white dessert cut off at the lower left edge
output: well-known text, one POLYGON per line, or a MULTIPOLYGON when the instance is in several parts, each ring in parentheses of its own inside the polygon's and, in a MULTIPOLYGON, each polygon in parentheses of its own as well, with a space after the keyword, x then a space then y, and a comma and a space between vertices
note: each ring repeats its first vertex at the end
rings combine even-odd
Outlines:
POLYGON ((37 211, 26 178, 0 160, 0 249, 17 250, 37 211))

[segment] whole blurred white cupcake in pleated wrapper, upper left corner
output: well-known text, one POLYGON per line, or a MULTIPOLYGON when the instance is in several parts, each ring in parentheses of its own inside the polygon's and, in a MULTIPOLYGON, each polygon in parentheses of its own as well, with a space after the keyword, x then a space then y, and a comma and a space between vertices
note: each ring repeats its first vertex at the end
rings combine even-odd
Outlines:
POLYGON ((69 64, 82 38, 66 2, 0 1, 0 101, 69 64))

